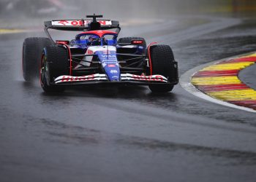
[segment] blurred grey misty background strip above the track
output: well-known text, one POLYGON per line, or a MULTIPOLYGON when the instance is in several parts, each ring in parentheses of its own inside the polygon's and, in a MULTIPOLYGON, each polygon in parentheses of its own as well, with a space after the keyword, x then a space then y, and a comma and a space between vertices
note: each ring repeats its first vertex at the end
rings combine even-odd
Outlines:
POLYGON ((0 0, 0 28, 20 28, 24 20, 33 26, 42 25, 41 19, 82 18, 93 13, 122 21, 184 14, 237 17, 255 15, 255 10, 253 0, 0 0))

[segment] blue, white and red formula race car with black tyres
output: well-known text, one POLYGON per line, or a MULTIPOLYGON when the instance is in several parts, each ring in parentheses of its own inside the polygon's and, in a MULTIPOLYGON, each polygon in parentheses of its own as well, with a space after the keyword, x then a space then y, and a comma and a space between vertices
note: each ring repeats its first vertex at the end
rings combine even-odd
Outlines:
POLYGON ((45 92, 62 92, 70 85, 138 84, 152 92, 169 92, 178 84, 178 63, 168 45, 141 37, 123 37, 118 21, 53 20, 45 22, 45 37, 23 42, 23 77, 39 76, 45 92), (75 39, 53 40, 48 29, 80 31, 75 39), (110 30, 115 31, 110 31, 110 30))

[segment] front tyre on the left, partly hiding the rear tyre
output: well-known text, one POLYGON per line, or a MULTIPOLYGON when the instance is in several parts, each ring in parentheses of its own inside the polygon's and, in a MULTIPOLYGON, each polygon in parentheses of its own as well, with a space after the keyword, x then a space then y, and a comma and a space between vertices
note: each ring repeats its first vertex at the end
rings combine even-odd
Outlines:
POLYGON ((55 85, 54 79, 69 75, 68 52, 65 47, 50 45, 42 51, 40 84, 45 92, 64 92, 64 85, 55 85))

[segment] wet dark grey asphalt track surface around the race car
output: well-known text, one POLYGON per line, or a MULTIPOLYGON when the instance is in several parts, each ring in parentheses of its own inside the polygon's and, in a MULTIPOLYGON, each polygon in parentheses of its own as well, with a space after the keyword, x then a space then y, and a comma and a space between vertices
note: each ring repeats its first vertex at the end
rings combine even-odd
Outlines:
MULTIPOLYGON (((170 44, 180 74, 256 50, 252 20, 172 18, 123 28, 121 36, 170 44)), ((255 181, 255 114, 195 98, 179 85, 165 95, 147 87, 46 95, 20 74, 23 39, 37 34, 0 36, 1 182, 255 181)), ((254 83, 246 71, 241 79, 254 83)))

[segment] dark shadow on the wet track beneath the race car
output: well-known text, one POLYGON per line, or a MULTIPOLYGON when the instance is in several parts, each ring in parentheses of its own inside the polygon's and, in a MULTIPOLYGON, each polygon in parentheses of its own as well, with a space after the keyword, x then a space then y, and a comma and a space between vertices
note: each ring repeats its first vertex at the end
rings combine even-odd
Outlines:
MULTIPOLYGON (((124 86, 110 86, 110 85, 93 85, 83 87, 68 87, 64 92, 46 93, 42 90, 38 82, 30 83, 23 82, 23 91, 26 97, 32 97, 44 100, 44 102, 75 102, 75 100, 86 98, 95 99, 110 99, 123 100, 132 103, 139 103, 145 106, 153 106, 157 108, 177 107, 181 98, 179 92, 174 87, 172 92, 153 93, 147 86, 138 85, 124 85, 124 86), (75 98, 73 100, 72 98, 75 98)), ((24 96, 25 97, 25 96, 24 96)), ((92 99, 93 100, 93 99, 92 99)))

